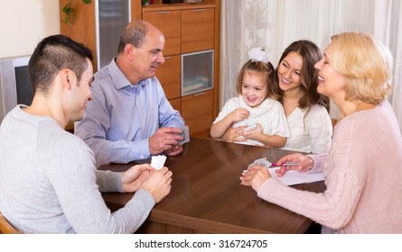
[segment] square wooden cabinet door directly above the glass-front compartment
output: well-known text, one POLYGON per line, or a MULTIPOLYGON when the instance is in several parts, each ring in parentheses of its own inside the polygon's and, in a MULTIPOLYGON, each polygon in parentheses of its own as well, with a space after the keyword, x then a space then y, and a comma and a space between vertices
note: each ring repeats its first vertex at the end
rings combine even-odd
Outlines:
POLYGON ((214 9, 182 11, 182 53, 213 49, 214 9))

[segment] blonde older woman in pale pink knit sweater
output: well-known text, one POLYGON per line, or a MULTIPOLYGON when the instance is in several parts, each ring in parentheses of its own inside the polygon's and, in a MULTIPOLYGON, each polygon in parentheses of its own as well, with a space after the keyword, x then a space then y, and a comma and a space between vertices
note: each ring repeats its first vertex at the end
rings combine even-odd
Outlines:
POLYGON ((315 220, 339 233, 402 233, 402 138, 387 95, 392 58, 371 36, 332 36, 319 72, 320 94, 339 107, 328 155, 293 154, 277 163, 301 172, 323 171, 324 193, 295 190, 272 179, 266 168, 250 167, 241 183, 259 197, 315 220))

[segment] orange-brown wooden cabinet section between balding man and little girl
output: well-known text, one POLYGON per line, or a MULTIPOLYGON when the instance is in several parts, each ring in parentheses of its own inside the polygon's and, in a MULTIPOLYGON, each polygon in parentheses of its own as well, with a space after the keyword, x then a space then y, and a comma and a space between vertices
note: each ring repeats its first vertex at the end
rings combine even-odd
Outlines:
POLYGON ((164 32, 166 59, 156 76, 164 86, 166 96, 176 109, 181 106, 179 111, 189 125, 191 135, 209 130, 219 112, 220 0, 204 0, 198 4, 154 1, 154 4, 143 6, 141 13, 143 20, 164 32), (176 57, 209 49, 213 50, 213 88, 177 96, 182 91, 184 62, 176 57))

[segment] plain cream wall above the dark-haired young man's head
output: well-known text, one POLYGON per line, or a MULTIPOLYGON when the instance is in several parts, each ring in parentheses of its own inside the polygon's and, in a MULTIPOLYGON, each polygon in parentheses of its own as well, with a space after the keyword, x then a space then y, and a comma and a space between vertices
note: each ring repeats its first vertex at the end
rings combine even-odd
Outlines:
POLYGON ((59 1, 0 0, 0 58, 29 55, 43 38, 60 33, 59 1))

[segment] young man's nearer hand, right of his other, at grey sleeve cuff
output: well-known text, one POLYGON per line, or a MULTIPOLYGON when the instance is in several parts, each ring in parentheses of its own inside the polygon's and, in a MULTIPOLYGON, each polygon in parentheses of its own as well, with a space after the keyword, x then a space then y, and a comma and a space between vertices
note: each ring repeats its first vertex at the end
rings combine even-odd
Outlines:
POLYGON ((172 175, 172 172, 164 166, 162 169, 150 173, 141 184, 141 189, 151 193, 155 202, 160 202, 171 191, 172 175))

